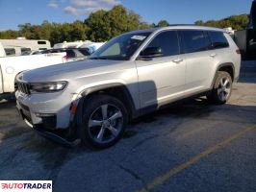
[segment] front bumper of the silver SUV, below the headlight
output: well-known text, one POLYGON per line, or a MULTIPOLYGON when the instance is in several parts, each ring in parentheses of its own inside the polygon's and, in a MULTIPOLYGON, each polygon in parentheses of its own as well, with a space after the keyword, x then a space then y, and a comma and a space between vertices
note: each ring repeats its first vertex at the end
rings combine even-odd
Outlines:
POLYGON ((65 130, 70 124, 71 94, 63 92, 26 95, 15 92, 16 108, 34 127, 65 130))

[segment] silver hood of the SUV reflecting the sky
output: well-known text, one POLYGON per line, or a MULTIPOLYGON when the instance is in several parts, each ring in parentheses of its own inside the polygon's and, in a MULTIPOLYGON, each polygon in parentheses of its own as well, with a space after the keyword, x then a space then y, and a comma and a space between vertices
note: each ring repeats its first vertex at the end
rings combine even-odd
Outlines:
POLYGON ((103 73, 106 68, 118 64, 120 60, 80 60, 50 65, 24 72, 20 79, 25 82, 40 83, 69 80, 103 73))

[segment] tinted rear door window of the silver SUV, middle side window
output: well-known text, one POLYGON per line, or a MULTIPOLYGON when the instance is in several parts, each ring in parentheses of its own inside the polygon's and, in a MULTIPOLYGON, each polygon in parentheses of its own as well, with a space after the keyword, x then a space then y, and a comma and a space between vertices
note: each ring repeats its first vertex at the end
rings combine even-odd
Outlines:
POLYGON ((206 51, 209 48, 209 40, 204 36, 202 31, 186 30, 181 32, 184 52, 193 53, 206 51))

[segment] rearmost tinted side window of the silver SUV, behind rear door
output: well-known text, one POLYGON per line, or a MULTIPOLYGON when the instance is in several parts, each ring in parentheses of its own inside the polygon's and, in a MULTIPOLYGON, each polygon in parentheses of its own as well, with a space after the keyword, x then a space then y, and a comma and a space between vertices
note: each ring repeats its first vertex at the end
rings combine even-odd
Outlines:
POLYGON ((228 41, 222 32, 209 32, 209 36, 212 41, 212 48, 219 49, 228 47, 228 41))

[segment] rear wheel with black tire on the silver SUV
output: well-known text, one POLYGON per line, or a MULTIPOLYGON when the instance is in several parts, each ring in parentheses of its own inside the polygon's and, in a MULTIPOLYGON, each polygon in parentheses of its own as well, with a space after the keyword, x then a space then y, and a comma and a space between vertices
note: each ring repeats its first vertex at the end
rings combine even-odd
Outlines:
POLYGON ((230 74, 225 71, 218 71, 213 90, 207 96, 207 99, 210 103, 213 103, 216 105, 222 105, 229 100, 231 96, 231 92, 232 92, 232 78, 230 74), (223 82, 223 81, 227 81, 227 82, 223 82), (226 83, 226 88, 224 88, 223 83, 226 83))

